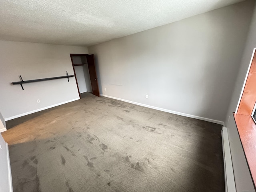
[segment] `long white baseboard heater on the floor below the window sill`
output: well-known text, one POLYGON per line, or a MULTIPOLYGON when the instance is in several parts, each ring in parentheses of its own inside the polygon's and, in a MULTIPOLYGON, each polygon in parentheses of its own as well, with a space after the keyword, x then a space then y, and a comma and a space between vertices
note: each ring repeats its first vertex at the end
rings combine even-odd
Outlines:
POLYGON ((224 160, 224 174, 225 174, 225 191, 236 192, 236 184, 234 178, 233 164, 228 140, 228 130, 226 127, 222 127, 222 150, 224 160))

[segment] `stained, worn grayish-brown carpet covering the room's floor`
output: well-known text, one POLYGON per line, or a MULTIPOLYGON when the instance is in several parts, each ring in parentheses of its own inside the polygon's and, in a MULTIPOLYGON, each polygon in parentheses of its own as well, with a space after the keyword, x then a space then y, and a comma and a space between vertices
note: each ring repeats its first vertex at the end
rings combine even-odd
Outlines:
POLYGON ((14 192, 224 192, 218 124, 85 93, 7 126, 14 192))

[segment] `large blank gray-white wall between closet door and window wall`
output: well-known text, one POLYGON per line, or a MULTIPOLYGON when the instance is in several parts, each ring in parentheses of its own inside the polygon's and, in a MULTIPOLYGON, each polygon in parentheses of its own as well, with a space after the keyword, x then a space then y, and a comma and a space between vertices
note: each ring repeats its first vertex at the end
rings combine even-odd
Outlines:
POLYGON ((90 46, 100 93, 224 121, 253 2, 90 46))

